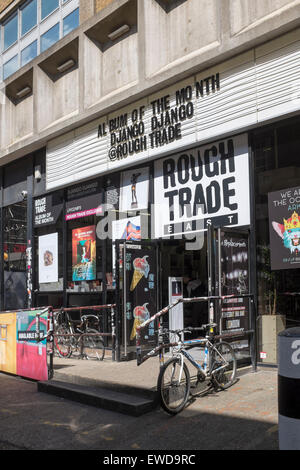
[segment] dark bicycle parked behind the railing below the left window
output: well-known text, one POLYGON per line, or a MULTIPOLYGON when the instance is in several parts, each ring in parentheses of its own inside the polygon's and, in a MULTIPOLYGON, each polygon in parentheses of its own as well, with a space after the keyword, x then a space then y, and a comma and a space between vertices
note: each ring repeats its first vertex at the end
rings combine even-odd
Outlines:
POLYGON ((72 321, 67 312, 58 312, 55 319, 54 344, 60 357, 69 358, 75 352, 79 352, 79 357, 91 360, 102 361, 105 356, 105 346, 103 337, 97 329, 90 328, 93 320, 99 324, 100 320, 96 315, 82 315, 79 325, 72 321), (60 319, 64 314, 65 318, 60 319))

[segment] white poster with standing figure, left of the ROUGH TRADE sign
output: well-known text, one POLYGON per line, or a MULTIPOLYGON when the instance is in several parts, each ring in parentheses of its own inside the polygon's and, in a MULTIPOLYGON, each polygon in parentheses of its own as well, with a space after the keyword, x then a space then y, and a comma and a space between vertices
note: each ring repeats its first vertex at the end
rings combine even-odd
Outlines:
POLYGON ((148 209, 149 168, 122 173, 120 189, 120 211, 148 209))

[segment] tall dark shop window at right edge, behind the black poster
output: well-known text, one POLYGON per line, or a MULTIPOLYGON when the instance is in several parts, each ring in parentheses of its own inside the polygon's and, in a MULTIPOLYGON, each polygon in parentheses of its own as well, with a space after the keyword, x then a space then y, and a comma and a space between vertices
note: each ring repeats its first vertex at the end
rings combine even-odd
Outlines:
POLYGON ((300 122, 294 120, 253 137, 258 314, 280 314, 287 327, 300 325, 298 238, 292 248, 284 240, 294 212, 295 229, 300 224, 299 135, 300 122))

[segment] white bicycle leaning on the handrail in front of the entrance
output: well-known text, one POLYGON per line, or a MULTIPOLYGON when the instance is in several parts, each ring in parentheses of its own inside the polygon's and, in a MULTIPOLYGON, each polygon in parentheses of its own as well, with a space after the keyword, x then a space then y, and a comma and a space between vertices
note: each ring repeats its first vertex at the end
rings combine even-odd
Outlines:
MULTIPOLYGON (((190 397, 191 377, 185 362, 189 361, 197 370, 197 383, 210 380, 210 384, 217 390, 230 387, 236 376, 236 356, 230 344, 221 341, 215 343, 211 330, 216 324, 202 325, 201 327, 188 327, 182 330, 166 330, 178 336, 177 343, 170 343, 176 347, 173 357, 160 369, 157 382, 157 391, 162 408, 169 414, 175 415, 183 410, 190 397), (182 333, 191 333, 197 330, 208 330, 203 338, 182 341, 182 333), (189 354, 187 347, 200 346, 204 348, 203 364, 198 363, 189 354)), ((196 384, 197 385, 197 384, 196 384)))

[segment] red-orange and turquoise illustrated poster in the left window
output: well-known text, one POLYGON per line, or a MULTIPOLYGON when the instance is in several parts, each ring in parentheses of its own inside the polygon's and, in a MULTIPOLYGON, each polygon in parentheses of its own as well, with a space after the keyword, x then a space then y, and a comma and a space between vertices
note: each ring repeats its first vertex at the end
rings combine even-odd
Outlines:
POLYGON ((72 230, 72 280, 94 281, 96 279, 96 227, 72 230))

